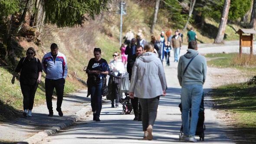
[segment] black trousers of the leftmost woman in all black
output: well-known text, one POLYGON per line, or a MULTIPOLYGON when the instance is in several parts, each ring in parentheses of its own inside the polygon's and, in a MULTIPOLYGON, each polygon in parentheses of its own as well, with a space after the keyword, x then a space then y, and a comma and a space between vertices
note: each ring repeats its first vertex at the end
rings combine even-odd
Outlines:
POLYGON ((20 89, 23 95, 23 109, 32 110, 34 105, 34 98, 36 94, 36 89, 38 87, 38 83, 36 82, 34 85, 23 85, 20 84, 20 89))

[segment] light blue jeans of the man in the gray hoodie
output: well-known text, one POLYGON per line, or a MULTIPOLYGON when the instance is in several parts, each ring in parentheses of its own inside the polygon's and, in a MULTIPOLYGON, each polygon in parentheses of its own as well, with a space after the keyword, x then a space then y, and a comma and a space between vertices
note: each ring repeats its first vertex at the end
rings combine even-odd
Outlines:
POLYGON ((195 136, 197 130, 198 113, 203 95, 203 85, 182 85, 182 125, 185 135, 195 136), (191 108, 191 119, 189 124, 189 111, 191 108))

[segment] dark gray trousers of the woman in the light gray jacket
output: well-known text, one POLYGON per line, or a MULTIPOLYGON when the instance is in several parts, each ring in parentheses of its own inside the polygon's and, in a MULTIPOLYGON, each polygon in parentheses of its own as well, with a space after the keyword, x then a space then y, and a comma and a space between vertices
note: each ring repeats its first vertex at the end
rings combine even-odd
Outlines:
POLYGON ((155 98, 139 98, 142 109, 142 127, 143 131, 147 131, 148 125, 154 125, 157 118, 159 96, 155 98))

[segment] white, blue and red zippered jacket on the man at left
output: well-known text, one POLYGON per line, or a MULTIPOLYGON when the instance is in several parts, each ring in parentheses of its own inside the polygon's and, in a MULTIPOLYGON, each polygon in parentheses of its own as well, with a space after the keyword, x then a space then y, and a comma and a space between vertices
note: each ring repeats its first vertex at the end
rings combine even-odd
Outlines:
POLYGON ((46 53, 42 59, 42 68, 47 79, 66 79, 68 74, 67 59, 64 54, 58 52, 54 61, 51 52, 46 53))

